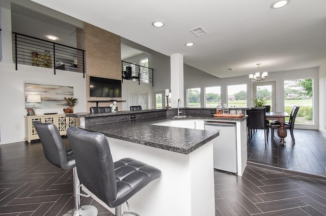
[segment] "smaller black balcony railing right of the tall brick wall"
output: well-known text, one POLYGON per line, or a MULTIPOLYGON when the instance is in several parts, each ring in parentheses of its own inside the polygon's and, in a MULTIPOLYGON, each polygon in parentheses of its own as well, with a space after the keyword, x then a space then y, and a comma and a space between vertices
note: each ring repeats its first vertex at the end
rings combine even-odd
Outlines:
POLYGON ((147 68, 140 65, 128 63, 127 61, 121 61, 122 69, 122 82, 124 79, 141 82, 152 83, 153 86, 153 71, 154 69, 147 68))

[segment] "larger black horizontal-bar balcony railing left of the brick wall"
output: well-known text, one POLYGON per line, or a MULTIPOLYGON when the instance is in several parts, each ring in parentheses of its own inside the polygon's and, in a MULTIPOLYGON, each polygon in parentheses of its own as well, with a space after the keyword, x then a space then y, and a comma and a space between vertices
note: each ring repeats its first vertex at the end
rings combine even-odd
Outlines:
POLYGON ((85 78, 85 50, 53 43, 19 33, 13 33, 13 60, 18 64, 83 73, 85 78))

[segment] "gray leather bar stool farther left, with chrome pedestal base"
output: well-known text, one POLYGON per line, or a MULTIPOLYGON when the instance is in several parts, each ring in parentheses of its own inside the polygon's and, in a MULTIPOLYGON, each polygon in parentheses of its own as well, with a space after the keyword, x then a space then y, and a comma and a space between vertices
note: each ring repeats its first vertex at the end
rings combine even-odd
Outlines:
POLYGON ((40 137, 45 158, 53 165, 63 169, 73 171, 73 196, 75 208, 69 210, 64 216, 96 216, 97 208, 92 205, 80 207, 80 196, 90 197, 90 195, 80 194, 80 183, 76 171, 76 163, 71 149, 65 149, 58 128, 49 123, 34 121, 33 125, 40 137))

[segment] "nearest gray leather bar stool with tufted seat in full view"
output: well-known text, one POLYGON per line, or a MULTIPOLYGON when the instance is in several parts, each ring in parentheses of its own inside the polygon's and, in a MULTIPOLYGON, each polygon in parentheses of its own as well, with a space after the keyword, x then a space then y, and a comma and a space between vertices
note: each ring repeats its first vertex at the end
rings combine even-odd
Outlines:
POLYGON ((80 182, 109 207, 115 208, 116 216, 139 215, 123 212, 122 205, 148 183, 159 178, 161 171, 131 158, 113 162, 110 145, 101 133, 70 127, 67 136, 80 182))

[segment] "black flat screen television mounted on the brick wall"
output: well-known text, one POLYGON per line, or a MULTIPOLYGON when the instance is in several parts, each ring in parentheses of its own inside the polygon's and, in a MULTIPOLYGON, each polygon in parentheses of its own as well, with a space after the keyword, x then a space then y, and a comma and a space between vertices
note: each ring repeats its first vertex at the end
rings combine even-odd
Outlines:
POLYGON ((90 97, 121 98, 121 80, 90 77, 90 97))

